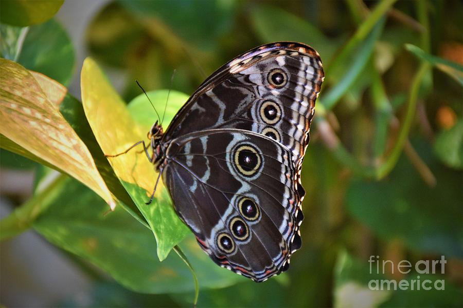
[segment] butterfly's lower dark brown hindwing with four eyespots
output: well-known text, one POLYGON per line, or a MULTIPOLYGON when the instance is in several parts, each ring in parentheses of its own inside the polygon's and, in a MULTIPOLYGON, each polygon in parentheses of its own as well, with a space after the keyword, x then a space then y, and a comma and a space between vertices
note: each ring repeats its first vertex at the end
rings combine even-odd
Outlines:
POLYGON ((293 153, 239 129, 194 132, 166 151, 175 209, 217 264, 256 281, 288 268, 300 247, 293 153))

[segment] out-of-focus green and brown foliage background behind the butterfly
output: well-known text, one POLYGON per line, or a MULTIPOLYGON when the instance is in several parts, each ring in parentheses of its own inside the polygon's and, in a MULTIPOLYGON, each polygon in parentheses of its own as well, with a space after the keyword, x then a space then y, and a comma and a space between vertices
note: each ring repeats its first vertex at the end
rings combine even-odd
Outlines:
MULTIPOLYGON (((311 45, 326 79, 302 169, 302 248, 287 273, 201 288, 198 305, 463 306, 462 21, 460 1, 84 0, 30 26, 24 44, 44 46, 34 49, 40 55, 51 46, 55 63, 36 70, 78 99, 82 62, 94 57, 126 102, 140 94, 134 80, 190 95, 248 49, 311 45), (443 279, 445 290, 372 291, 372 279, 417 273, 369 273, 370 256, 394 264, 444 256, 444 273, 426 277, 443 279)), ((5 150, 0 161, 4 218, 30 198, 42 169, 5 150)), ((44 224, 2 242, 2 305, 191 306, 191 289, 139 293, 117 269, 50 244, 44 224)))

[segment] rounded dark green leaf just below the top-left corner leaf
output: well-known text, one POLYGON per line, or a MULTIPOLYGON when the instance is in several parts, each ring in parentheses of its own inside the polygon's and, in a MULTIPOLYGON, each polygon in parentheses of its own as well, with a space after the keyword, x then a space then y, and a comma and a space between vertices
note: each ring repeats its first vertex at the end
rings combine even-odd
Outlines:
POLYGON ((74 72, 74 48, 64 28, 54 19, 29 27, 16 62, 68 85, 74 72))

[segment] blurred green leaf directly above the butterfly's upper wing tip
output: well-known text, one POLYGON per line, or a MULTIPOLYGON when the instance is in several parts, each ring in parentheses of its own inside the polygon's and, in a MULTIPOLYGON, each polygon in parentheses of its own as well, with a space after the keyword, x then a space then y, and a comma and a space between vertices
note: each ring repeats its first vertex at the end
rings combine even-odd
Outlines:
POLYGON ((339 42, 329 40, 325 34, 307 21, 270 5, 254 7, 251 11, 251 20, 262 44, 278 41, 306 43, 318 51, 325 64, 340 45, 339 42))

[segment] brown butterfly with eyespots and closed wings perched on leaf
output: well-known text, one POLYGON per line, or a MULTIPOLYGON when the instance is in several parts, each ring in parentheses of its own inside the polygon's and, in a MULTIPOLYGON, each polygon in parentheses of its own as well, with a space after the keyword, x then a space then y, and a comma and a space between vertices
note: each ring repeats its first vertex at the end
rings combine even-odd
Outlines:
POLYGON ((301 246, 300 171, 323 79, 310 46, 256 47, 212 73, 165 132, 153 124, 151 155, 139 142, 201 248, 256 282, 301 246))

